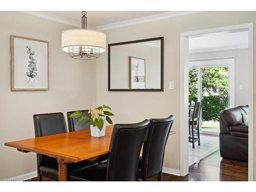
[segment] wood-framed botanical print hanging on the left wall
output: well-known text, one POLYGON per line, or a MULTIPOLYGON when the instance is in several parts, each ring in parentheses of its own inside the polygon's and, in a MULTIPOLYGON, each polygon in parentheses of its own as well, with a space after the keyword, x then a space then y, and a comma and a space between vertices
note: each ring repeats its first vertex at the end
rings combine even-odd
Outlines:
POLYGON ((11 90, 49 90, 49 42, 11 35, 11 90))

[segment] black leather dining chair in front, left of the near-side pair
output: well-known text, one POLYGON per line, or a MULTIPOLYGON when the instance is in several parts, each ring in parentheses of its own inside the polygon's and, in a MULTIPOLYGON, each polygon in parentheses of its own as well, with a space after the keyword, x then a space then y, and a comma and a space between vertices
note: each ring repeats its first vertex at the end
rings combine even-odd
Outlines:
POLYGON ((136 181, 140 150, 149 120, 115 124, 108 163, 70 175, 71 181, 136 181))

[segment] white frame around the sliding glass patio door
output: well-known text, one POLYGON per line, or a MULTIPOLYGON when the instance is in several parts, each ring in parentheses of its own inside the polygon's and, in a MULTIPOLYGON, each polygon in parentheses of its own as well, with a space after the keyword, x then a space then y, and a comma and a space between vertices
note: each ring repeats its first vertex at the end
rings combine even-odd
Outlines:
MULTIPOLYGON (((200 58, 200 59, 189 59, 188 60, 188 70, 190 69, 197 69, 198 70, 198 101, 202 100, 201 96, 201 84, 202 84, 202 75, 201 69, 202 68, 218 68, 218 67, 228 67, 228 96, 229 96, 229 104, 228 108, 234 107, 234 96, 235 96, 235 89, 234 89, 234 68, 235 68, 236 57, 229 56, 229 57, 215 57, 215 58, 200 58), (223 62, 224 61, 224 62, 223 62), (190 65, 190 62, 192 65, 190 65), (204 65, 201 65, 200 62, 205 62, 204 65)), ((201 112, 202 113, 202 112, 201 112)), ((219 135, 220 132, 211 132, 211 131, 202 131, 201 130, 201 115, 200 115, 200 123, 199 129, 200 134, 206 135, 219 135)))

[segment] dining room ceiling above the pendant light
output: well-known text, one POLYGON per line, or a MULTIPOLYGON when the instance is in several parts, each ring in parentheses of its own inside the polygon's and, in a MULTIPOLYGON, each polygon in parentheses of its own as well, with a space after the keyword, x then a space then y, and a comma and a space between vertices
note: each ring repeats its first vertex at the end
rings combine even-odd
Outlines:
MULTIPOLYGON (((51 15, 60 16, 81 22, 82 11, 44 11, 51 15)), ((170 11, 87 11, 87 24, 90 26, 102 26, 124 20, 135 19, 170 11)))

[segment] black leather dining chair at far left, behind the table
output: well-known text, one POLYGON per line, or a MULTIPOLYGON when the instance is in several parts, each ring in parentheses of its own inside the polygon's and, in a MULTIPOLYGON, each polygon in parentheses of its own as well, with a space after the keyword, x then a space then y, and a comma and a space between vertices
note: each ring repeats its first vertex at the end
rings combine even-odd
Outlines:
MULTIPOLYGON (((33 116, 35 137, 42 137, 60 133, 67 133, 67 126, 63 113, 38 114, 33 116)), ((37 178, 42 180, 42 176, 58 180, 58 162, 56 158, 46 155, 36 154, 37 157, 37 178)), ((68 164, 68 175, 79 170, 97 165, 93 161, 81 161, 68 164)))

